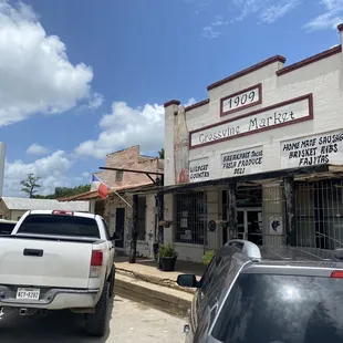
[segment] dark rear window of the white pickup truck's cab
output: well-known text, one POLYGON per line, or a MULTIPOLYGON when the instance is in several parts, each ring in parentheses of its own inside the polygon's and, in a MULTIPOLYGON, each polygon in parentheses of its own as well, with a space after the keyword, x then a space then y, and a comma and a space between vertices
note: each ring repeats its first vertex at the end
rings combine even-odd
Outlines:
POLYGON ((100 238, 95 219, 70 215, 29 215, 18 233, 100 238))

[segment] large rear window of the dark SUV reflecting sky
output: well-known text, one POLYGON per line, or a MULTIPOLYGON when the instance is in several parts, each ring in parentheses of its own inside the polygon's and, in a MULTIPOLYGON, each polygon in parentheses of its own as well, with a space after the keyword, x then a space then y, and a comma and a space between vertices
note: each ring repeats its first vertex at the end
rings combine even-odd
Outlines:
POLYGON ((227 343, 343 342, 343 279, 241 274, 211 335, 227 343))

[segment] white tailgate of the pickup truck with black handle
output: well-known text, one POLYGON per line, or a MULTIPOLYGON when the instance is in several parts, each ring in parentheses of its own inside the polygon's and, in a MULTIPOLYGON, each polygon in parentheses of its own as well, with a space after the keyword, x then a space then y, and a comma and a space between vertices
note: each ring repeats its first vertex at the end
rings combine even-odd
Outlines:
POLYGON ((89 287, 92 242, 0 239, 0 283, 53 288, 89 287))

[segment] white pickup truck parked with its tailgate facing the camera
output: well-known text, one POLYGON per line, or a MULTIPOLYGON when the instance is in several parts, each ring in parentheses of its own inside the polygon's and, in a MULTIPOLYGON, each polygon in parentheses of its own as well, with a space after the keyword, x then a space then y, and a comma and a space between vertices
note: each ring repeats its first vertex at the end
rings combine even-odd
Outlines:
POLYGON ((0 237, 0 308, 31 315, 70 309, 89 335, 106 331, 114 242, 101 216, 31 210, 0 237))

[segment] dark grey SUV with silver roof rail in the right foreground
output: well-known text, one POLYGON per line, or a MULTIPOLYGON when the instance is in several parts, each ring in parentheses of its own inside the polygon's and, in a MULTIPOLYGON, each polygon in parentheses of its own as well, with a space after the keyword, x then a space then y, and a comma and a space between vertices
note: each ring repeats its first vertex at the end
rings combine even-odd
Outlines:
POLYGON ((343 249, 258 247, 231 240, 200 281, 186 342, 343 342, 343 249))

